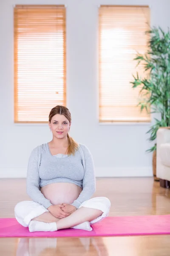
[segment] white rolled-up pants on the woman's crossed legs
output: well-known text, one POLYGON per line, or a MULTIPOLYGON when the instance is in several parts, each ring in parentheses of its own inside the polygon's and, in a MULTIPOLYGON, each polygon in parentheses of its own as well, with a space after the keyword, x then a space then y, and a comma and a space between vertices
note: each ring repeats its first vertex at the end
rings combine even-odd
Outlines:
MULTIPOLYGON (((103 212, 101 216, 90 222, 93 224, 108 216, 111 202, 108 198, 97 197, 84 201, 82 204, 80 204, 79 208, 80 207, 98 209, 103 212)), ((28 227, 33 218, 42 215, 44 212, 48 212, 48 209, 43 207, 41 204, 35 203, 34 201, 22 201, 18 203, 14 209, 15 218, 23 227, 28 227)))

